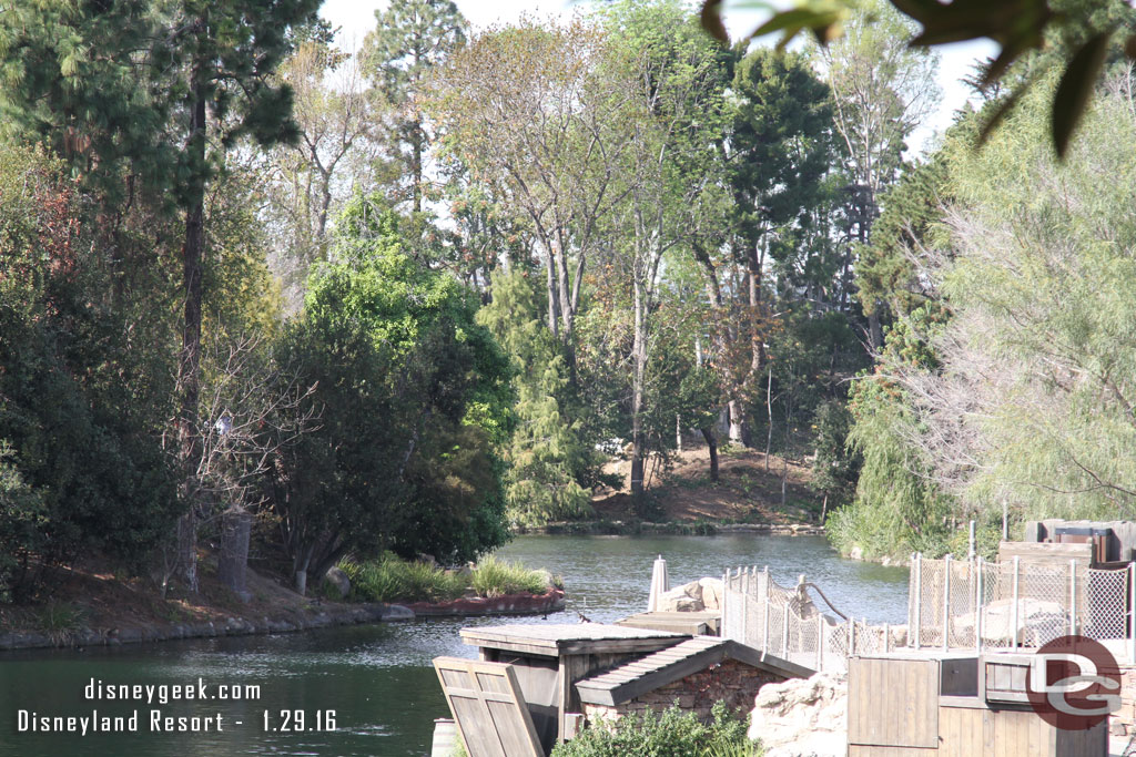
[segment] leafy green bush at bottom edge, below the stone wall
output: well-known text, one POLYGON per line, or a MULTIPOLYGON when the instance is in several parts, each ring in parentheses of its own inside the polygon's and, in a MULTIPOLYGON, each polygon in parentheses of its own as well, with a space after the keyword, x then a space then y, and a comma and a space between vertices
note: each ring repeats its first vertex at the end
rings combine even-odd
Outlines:
POLYGON ((713 722, 677 706, 661 715, 648 710, 616 723, 592 725, 559 745, 552 757, 758 757, 760 747, 745 735, 745 721, 725 703, 713 706, 713 722))

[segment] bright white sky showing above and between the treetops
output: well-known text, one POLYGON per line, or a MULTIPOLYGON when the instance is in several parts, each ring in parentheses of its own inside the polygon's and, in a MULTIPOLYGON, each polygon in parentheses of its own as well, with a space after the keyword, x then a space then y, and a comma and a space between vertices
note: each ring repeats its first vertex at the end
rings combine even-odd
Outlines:
MULTIPOLYGON (((524 12, 535 16, 560 16, 570 14, 576 7, 586 6, 573 0, 457 0, 457 3, 474 28, 510 23, 524 12)), ((325 0, 319 15, 331 22, 332 26, 341 28, 342 47, 354 49, 374 27, 375 10, 386 8, 389 5, 389 0, 325 0)), ((761 11, 730 11, 729 5, 727 0, 726 26, 730 36, 741 36, 761 23, 761 11)), ((970 73, 975 60, 994 54, 997 47, 988 40, 983 40, 945 45, 937 50, 941 56, 938 84, 943 99, 926 128, 912 135, 910 146, 916 151, 933 133, 942 132, 951 125, 952 113, 963 106, 968 94, 959 79, 970 73)))

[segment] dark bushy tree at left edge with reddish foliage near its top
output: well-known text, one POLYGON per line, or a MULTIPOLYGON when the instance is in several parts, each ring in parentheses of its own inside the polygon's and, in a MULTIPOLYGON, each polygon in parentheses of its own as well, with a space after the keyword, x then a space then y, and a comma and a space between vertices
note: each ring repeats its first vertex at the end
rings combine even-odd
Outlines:
POLYGON ((0 146, 0 599, 80 556, 137 571, 178 512, 168 386, 109 306, 114 251, 61 170, 0 146))

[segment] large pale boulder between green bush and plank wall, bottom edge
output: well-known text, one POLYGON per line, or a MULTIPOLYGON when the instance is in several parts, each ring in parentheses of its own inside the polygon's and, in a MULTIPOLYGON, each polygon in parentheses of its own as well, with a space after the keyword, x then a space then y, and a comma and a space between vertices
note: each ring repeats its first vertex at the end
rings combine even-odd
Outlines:
POLYGON ((843 674, 767 683, 750 715, 750 739, 765 757, 843 757, 847 751, 847 683, 843 674))

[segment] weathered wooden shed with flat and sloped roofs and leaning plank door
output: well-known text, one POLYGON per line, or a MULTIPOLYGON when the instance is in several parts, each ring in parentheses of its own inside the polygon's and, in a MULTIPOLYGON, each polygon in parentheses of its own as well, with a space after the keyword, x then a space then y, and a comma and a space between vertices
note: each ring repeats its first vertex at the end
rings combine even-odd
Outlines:
POLYGON ((812 673, 726 639, 626 625, 491 625, 465 628, 461 638, 478 647, 479 657, 463 662, 445 657, 435 666, 467 743, 485 749, 470 745, 470 757, 495 757, 498 743, 525 742, 529 725, 534 743, 548 754, 575 734, 585 714, 666 709, 676 699, 709 714, 715 697, 747 708, 761 684, 812 673), (467 723, 476 735, 466 733, 467 723), (493 729, 512 733, 493 735, 493 729))

